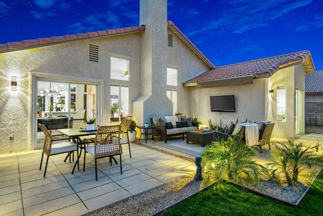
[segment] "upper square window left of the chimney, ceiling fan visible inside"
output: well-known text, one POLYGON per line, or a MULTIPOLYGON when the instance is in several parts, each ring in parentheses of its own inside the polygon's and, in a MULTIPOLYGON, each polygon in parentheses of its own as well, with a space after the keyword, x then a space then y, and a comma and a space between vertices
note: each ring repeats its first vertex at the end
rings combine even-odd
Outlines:
POLYGON ((111 78, 129 80, 129 61, 126 59, 111 57, 111 78))

